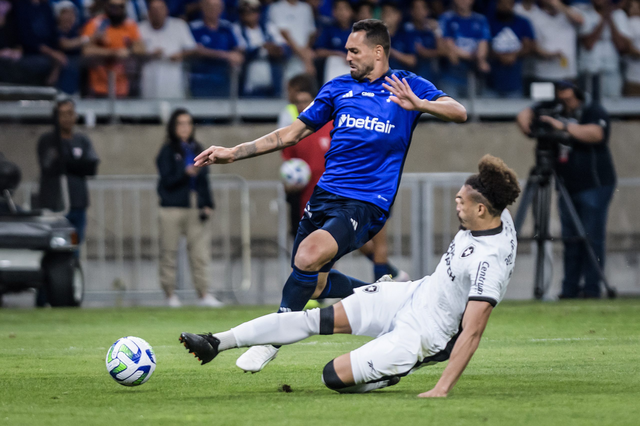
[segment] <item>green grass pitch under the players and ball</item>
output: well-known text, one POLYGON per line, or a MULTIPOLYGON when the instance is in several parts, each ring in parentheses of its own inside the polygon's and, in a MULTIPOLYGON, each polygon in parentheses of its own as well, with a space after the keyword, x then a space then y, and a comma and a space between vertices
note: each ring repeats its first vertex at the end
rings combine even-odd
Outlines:
POLYGON ((324 388, 324 364, 367 338, 313 337, 253 375, 234 365, 244 349, 201 367, 178 342, 273 309, 0 310, 0 426, 640 424, 640 300, 502 303, 446 399, 416 398, 444 365, 364 395, 324 388), (104 367, 127 335, 157 355, 137 388, 104 367))

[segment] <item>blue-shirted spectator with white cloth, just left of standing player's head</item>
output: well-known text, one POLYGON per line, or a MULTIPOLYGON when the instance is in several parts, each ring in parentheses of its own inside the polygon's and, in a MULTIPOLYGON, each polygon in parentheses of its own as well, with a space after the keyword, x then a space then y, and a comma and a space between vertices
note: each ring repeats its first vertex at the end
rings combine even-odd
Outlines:
POLYGON ((326 58, 324 62, 324 82, 338 75, 351 72, 347 62, 347 43, 353 25, 353 8, 349 0, 333 2, 333 24, 322 29, 316 40, 316 55, 326 58))

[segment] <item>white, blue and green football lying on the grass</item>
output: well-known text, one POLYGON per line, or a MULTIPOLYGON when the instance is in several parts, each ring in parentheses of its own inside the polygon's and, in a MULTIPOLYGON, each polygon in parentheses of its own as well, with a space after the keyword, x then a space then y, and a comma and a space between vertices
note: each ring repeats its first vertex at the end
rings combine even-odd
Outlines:
POLYGON ((107 371, 124 386, 139 386, 156 370, 154 349, 140 337, 122 337, 107 352, 107 371))

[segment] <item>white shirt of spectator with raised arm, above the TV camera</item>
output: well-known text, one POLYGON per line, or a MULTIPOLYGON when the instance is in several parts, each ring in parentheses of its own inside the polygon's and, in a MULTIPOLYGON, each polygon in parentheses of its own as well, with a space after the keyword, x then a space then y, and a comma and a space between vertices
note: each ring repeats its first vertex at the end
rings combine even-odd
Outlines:
POLYGON ((536 43, 547 52, 562 52, 563 59, 541 59, 534 63, 534 77, 543 80, 573 79, 577 76, 577 31, 572 22, 558 12, 550 15, 540 8, 527 13, 536 43))

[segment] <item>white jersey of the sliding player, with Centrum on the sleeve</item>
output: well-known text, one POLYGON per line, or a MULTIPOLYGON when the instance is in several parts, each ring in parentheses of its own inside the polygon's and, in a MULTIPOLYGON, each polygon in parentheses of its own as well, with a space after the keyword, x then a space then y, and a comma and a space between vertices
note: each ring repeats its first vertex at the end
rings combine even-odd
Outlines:
POLYGON ((418 290, 425 296, 428 316, 446 339, 458 332, 467 300, 495 307, 504 297, 518 241, 507 209, 500 219, 502 225, 495 230, 458 231, 435 272, 418 290))

